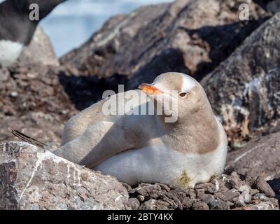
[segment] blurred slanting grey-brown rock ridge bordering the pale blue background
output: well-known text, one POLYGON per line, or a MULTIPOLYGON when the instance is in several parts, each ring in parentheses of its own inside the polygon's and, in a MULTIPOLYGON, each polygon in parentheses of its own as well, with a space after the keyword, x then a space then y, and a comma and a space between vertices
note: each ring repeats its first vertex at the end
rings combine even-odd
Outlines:
POLYGON ((144 6, 130 15, 117 15, 107 21, 89 41, 64 55, 62 64, 75 66, 87 74, 97 74, 106 59, 113 57, 139 29, 165 13, 168 4, 144 6))

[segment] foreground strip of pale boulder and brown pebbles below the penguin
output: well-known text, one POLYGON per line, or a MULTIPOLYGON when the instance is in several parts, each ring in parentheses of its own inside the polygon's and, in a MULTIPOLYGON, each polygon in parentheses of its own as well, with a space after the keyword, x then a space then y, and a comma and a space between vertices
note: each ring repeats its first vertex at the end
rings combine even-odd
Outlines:
POLYGON ((279 210, 279 181, 271 185, 229 169, 194 189, 131 188, 30 144, 0 145, 0 209, 279 210))

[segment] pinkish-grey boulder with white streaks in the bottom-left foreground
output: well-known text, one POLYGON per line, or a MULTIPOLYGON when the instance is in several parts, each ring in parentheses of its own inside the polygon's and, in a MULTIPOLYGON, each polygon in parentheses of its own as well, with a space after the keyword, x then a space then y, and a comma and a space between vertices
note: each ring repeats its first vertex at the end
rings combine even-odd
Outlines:
POLYGON ((0 209, 131 209, 123 184, 25 143, 0 145, 0 209))

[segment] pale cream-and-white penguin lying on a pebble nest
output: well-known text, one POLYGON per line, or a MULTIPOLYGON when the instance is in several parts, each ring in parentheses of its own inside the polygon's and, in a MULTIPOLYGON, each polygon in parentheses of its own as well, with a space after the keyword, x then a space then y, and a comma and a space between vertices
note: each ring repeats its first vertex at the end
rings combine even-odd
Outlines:
POLYGON ((227 137, 200 83, 183 73, 163 73, 139 88, 103 99, 71 118, 54 153, 132 186, 145 182, 187 188, 223 172, 227 137), (153 102, 153 110, 162 107, 163 113, 104 113, 108 105, 118 110, 120 94, 134 110, 153 102), (140 100, 131 102, 137 94, 140 100), (177 106, 170 106, 174 101, 177 106), (167 122, 170 110, 177 118, 167 122))

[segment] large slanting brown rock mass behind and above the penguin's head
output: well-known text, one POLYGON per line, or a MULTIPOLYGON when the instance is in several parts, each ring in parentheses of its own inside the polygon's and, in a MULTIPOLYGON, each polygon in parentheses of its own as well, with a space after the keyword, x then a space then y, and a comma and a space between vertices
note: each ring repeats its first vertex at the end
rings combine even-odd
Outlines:
POLYGON ((125 83, 127 89, 167 71, 200 79, 267 16, 251 0, 178 0, 146 6, 109 20, 90 41, 60 61, 84 74, 106 78, 106 85, 125 83), (239 20, 241 3, 250 7, 250 21, 239 20))

